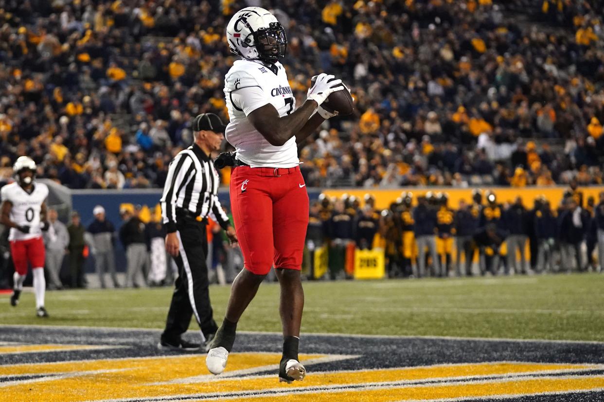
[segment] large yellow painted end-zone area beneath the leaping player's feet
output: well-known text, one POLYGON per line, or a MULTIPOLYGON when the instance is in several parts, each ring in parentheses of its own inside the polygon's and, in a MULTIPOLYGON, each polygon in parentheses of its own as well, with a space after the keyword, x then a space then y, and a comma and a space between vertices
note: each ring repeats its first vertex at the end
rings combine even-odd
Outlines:
MULTIPOLYGON (((233 353, 225 373, 219 376, 207 371, 205 354, 5 365, 0 366, 0 377, 10 378, 0 382, 0 392, 10 401, 195 400, 202 395, 214 400, 239 397, 234 400, 243 401, 253 396, 259 401, 282 401, 283 394, 288 394, 288 402, 332 402, 434 400, 604 388, 601 375, 574 375, 602 366, 579 364, 492 362, 333 372, 312 372, 309 366, 304 381, 292 385, 278 383, 276 374, 258 374, 276 371, 280 357, 276 353, 233 353)), ((309 354, 301 355, 301 360, 334 362, 350 357, 309 354)))

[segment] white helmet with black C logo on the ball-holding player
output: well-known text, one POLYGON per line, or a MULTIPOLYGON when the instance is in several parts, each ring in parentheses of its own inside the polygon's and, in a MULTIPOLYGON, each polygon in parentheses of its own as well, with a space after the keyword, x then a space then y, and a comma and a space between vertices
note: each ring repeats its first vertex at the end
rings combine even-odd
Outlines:
POLYGON ((285 57, 288 48, 283 26, 273 14, 261 7, 237 11, 226 25, 226 40, 234 54, 269 63, 285 57))

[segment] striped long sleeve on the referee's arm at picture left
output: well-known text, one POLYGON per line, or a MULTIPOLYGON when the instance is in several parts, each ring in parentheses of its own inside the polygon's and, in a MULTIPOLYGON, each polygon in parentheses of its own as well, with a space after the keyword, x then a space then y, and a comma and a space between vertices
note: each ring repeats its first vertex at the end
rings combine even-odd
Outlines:
POLYGON ((170 163, 168 175, 165 180, 164 193, 159 201, 161 204, 162 222, 167 233, 176 231, 176 200, 178 199, 178 190, 185 179, 190 174, 191 169, 194 169, 193 160, 187 154, 177 155, 170 163))

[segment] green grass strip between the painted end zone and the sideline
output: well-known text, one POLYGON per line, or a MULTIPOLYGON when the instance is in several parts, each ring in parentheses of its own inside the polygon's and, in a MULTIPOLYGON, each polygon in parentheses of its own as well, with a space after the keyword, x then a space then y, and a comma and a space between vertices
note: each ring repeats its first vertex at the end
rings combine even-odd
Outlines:
MULTIPOLYGON (((604 341, 602 289, 602 274, 311 281, 302 331, 604 341)), ((229 292, 210 287, 219 322, 229 292)), ((169 287, 48 292, 49 319, 34 315, 30 292, 16 308, 1 295, 0 324, 162 328, 171 294, 169 287)), ((263 284, 237 328, 280 331, 278 297, 278 284, 263 284)))

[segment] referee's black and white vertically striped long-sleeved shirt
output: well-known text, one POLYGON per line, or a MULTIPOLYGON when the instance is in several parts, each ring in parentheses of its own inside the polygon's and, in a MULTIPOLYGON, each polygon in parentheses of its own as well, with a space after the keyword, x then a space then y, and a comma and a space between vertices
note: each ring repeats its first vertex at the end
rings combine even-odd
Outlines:
POLYGON ((214 164, 198 145, 179 152, 170 163, 160 200, 168 233, 176 231, 176 209, 181 208, 202 219, 209 216, 226 229, 229 220, 218 200, 219 184, 214 164))

